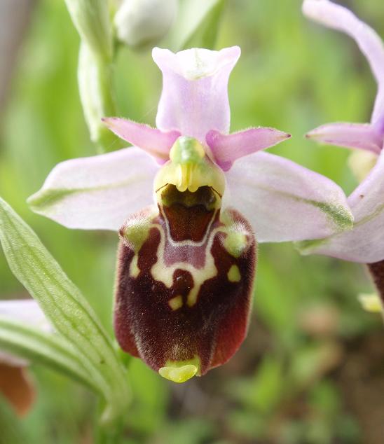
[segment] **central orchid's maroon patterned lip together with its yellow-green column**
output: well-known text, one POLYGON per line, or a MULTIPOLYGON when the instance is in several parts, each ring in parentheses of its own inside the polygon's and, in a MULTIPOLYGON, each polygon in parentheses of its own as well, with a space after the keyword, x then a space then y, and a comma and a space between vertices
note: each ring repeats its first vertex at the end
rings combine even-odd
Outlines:
POLYGON ((224 174, 179 137, 154 183, 157 208, 120 230, 115 331, 121 348, 174 382, 228 361, 247 333, 256 242, 221 208, 224 174))

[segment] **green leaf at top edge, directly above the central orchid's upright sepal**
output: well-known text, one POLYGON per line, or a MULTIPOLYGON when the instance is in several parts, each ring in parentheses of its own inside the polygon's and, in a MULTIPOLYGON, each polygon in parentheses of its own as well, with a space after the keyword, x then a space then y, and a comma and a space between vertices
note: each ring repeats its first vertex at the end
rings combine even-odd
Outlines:
POLYGON ((181 0, 165 46, 172 50, 192 46, 212 49, 225 4, 225 0, 181 0))

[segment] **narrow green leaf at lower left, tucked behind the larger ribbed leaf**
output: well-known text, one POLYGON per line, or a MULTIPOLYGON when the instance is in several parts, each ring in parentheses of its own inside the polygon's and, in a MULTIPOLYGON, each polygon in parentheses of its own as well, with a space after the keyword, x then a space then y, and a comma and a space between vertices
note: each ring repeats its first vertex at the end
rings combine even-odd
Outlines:
POLYGON ((0 315, 0 349, 41 363, 98 392, 71 344, 60 335, 39 331, 0 315))

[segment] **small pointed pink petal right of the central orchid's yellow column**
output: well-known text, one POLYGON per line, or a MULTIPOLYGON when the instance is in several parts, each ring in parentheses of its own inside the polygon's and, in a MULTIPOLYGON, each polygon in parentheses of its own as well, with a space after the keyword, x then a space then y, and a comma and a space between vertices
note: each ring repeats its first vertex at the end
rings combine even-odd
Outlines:
POLYGON ((291 134, 273 128, 251 128, 233 134, 221 134, 211 130, 205 140, 212 150, 217 164, 227 171, 236 159, 268 148, 289 139, 291 134))

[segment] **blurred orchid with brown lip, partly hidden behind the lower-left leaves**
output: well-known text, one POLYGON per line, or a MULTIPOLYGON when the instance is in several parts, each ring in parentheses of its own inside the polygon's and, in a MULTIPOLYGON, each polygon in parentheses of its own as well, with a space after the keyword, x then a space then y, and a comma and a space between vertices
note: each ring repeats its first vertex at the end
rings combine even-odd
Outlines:
MULTIPOLYGON (((1 300, 0 319, 22 322, 47 333, 52 330, 34 300, 1 300)), ((25 359, 0 350, 0 395, 13 405, 18 415, 25 415, 35 399, 28 366, 25 359)))

